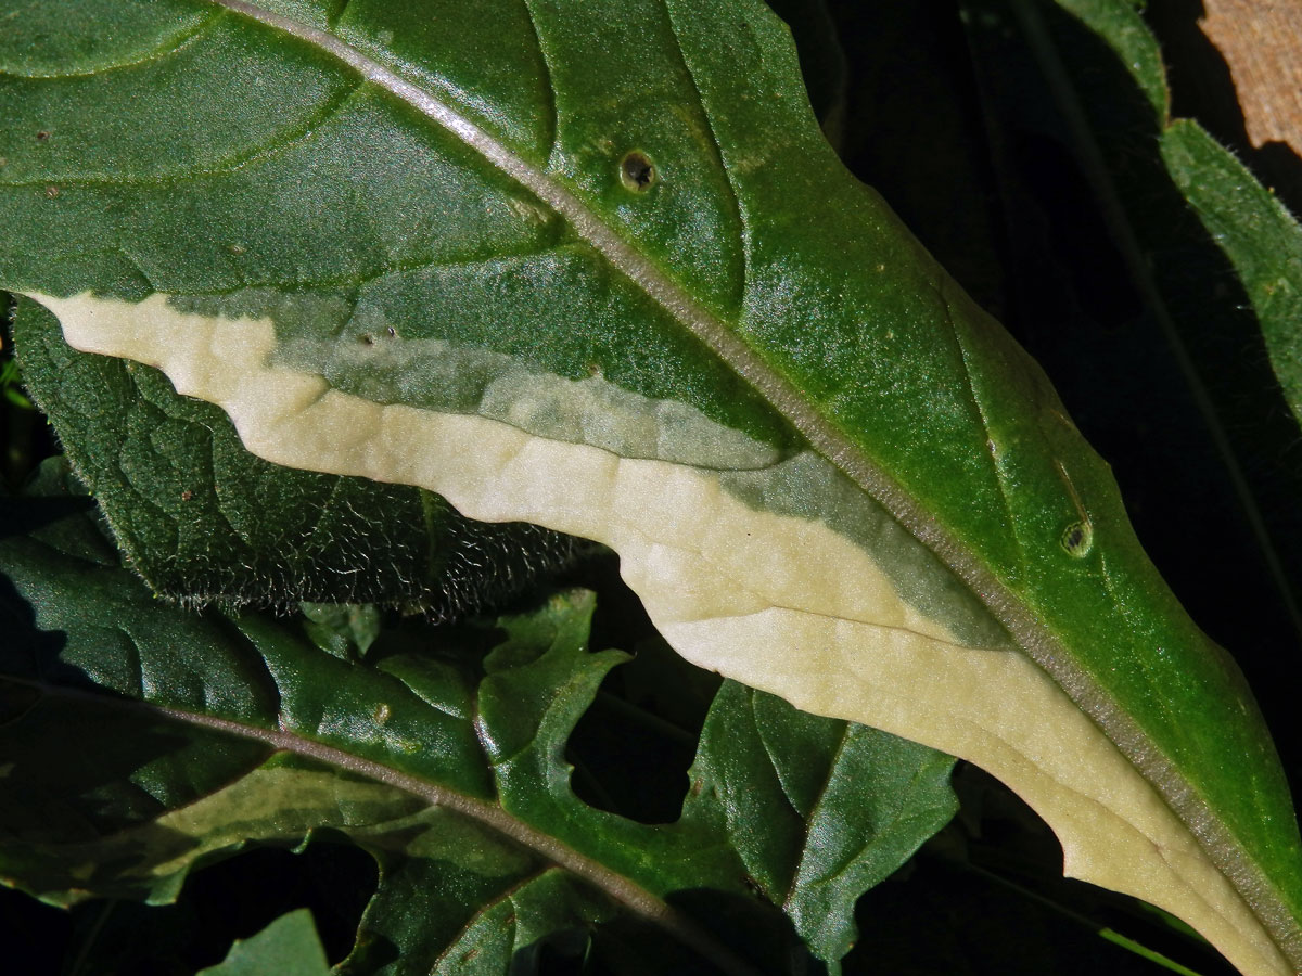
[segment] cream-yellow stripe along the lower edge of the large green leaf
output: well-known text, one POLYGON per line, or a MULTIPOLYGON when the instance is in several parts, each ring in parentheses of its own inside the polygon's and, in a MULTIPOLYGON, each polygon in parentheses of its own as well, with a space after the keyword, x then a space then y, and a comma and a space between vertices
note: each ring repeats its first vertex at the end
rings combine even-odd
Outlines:
POLYGON ((270 366, 270 320, 35 297, 77 349, 161 368, 290 467, 418 484, 483 521, 605 543, 673 647, 810 712, 970 759, 1055 829, 1066 872, 1180 916, 1245 973, 1290 973, 1152 786, 1029 657, 966 647, 897 595, 870 553, 755 510, 707 468, 618 458, 500 420, 379 406, 270 366))

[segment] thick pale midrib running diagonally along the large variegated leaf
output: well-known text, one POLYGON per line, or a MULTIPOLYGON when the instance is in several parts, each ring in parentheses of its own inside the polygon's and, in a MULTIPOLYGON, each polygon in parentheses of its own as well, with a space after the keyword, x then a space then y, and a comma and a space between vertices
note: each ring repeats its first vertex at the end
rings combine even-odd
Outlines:
MULTIPOLYGON (((756 390, 820 454, 840 468, 859 489, 881 504, 909 532, 963 580, 1017 645, 1040 666, 1068 698, 1100 727, 1104 737, 1126 756, 1198 839, 1213 864, 1225 874, 1245 903, 1259 908, 1262 868, 1240 847, 1221 817, 1198 796, 1193 783, 1165 756, 1131 716, 1099 682, 1082 669, 1070 651, 982 561, 926 511, 887 471, 879 467, 840 427, 814 409, 799 388, 694 299, 654 260, 638 251, 611 225, 599 219, 578 197, 548 177, 487 130, 478 126, 428 91, 406 81, 328 31, 266 10, 246 0, 211 0, 234 13, 337 57, 367 81, 401 99, 478 152, 487 163, 533 193, 564 217, 620 273, 641 288, 693 336, 756 390), (1226 845, 1226 838, 1233 839, 1226 845), (1246 877, 1245 877, 1246 876, 1246 877), (1251 897, 1253 894, 1258 897, 1251 897)), ((728 174, 729 185, 732 176, 728 174)), ((1273 888, 1267 885, 1267 888, 1273 888)), ((1273 912, 1254 911, 1275 938, 1268 919, 1273 912)), ((1288 911, 1285 910, 1285 915, 1288 911)), ((1285 940, 1286 941, 1286 940, 1285 940)))

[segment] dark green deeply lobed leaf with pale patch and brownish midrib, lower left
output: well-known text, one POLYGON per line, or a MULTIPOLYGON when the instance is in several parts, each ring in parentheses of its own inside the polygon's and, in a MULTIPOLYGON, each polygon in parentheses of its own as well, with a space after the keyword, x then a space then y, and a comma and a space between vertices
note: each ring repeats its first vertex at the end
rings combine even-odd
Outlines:
POLYGON ((445 629, 436 647, 389 647, 367 664, 284 623, 160 605, 112 565, 86 514, 51 513, 53 501, 16 504, 35 511, 30 521, 56 518, 0 541, 12 587, 0 593, 12 635, 0 679, 0 872, 51 903, 167 902, 214 856, 328 828, 380 863, 350 972, 383 969, 395 947, 404 967, 441 960, 462 972, 457 960, 474 956, 475 972, 504 972, 540 940, 586 938, 621 914, 727 960, 734 950, 702 934, 717 924, 720 898, 769 929, 750 936, 760 946, 784 932, 746 888, 747 871, 786 872, 786 901, 773 901, 797 927, 823 904, 844 914, 823 923, 837 940, 809 940, 835 964, 853 938, 854 899, 953 811, 952 760, 769 700, 771 748, 812 747, 811 729, 845 743, 822 756, 828 807, 840 806, 836 791, 872 800, 788 815, 783 832, 825 835, 792 874, 781 851, 747 848, 764 817, 738 817, 730 799, 759 795, 768 769, 733 769, 716 783, 732 730, 754 716, 740 688, 712 705, 703 772, 677 822, 594 809, 570 790, 564 751, 624 656, 587 651, 590 595, 445 629), (897 789, 901 778, 911 791, 897 789), (818 869, 831 859, 844 877, 818 869), (684 908, 661 901, 693 890, 712 894, 684 908))

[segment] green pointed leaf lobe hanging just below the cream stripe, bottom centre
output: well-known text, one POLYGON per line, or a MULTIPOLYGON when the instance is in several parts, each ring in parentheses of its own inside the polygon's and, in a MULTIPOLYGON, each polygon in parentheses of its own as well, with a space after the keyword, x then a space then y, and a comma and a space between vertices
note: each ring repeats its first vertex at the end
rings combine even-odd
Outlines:
POLYGON ((859 895, 957 808, 950 757, 734 682, 715 698, 702 746, 693 789, 719 795, 750 878, 825 960, 854 943, 859 895))

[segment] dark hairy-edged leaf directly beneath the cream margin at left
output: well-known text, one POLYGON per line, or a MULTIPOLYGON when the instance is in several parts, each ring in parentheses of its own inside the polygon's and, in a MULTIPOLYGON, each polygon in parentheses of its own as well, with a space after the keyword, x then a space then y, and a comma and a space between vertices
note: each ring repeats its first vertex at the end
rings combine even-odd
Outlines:
POLYGON ((76 353, 30 301, 17 318, 23 362, 40 377, 31 386, 132 566, 161 595, 187 605, 375 601, 445 617, 500 603, 573 558, 570 539, 470 522, 419 488, 277 468, 158 371, 76 353))

